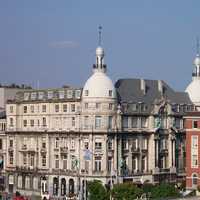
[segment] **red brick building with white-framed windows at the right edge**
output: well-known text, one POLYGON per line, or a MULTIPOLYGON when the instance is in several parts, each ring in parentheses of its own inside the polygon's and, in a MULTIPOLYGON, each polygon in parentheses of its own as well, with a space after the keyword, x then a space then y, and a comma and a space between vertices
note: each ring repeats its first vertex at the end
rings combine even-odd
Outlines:
POLYGON ((200 186, 200 112, 188 113, 186 129, 186 187, 200 186))

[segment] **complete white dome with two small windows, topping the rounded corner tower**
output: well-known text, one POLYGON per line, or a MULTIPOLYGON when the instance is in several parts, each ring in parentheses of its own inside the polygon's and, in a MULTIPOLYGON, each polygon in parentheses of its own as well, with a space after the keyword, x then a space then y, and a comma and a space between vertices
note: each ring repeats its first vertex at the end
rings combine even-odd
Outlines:
POLYGON ((115 87, 111 79, 103 72, 95 72, 83 88, 85 98, 116 98, 115 87))

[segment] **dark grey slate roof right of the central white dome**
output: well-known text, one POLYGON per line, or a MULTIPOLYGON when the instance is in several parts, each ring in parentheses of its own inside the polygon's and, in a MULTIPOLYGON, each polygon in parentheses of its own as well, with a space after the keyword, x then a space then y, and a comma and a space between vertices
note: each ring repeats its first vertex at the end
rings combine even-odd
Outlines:
POLYGON ((153 104, 156 100, 165 98, 174 104, 192 104, 186 92, 176 92, 162 81, 164 94, 158 90, 158 80, 145 80, 146 93, 141 90, 141 79, 119 79, 115 83, 120 102, 143 102, 153 104))

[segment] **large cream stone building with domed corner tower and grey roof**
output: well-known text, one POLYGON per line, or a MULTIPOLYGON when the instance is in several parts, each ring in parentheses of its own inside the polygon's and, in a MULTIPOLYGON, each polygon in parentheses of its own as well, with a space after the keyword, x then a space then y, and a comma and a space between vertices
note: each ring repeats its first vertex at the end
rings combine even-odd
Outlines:
POLYGON ((83 194, 93 179, 111 186, 185 177, 188 94, 161 80, 113 85, 106 69, 98 47, 83 89, 26 90, 7 102, 0 149, 8 192, 58 197, 83 194))

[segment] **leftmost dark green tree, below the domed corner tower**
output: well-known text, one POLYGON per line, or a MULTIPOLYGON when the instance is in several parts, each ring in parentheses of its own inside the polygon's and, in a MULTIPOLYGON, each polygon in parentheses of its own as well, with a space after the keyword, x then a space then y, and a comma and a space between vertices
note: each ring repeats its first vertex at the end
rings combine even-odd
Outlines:
POLYGON ((89 200, 109 200, 109 193, 101 181, 94 180, 87 183, 89 200))

